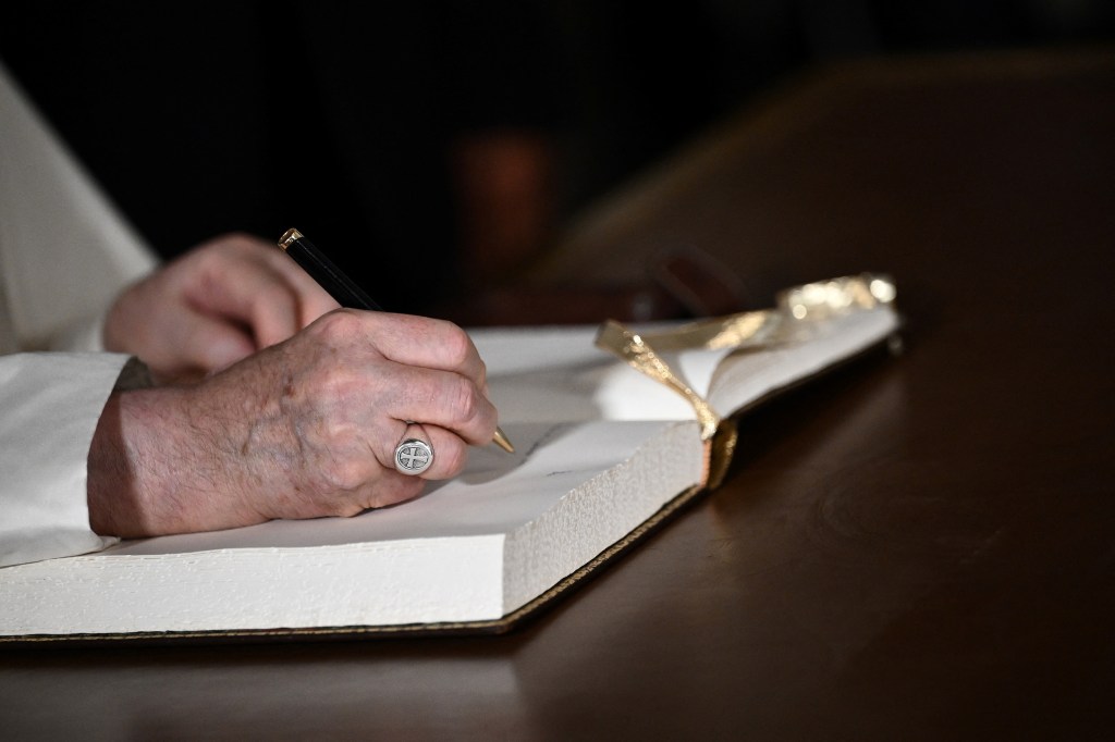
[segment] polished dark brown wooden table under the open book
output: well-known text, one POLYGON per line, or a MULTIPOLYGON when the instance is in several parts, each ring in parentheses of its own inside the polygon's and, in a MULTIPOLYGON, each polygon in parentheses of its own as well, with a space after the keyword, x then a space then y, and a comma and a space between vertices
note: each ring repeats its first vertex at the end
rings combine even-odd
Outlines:
POLYGON ((890 272, 905 351, 745 420, 723 488, 508 635, 7 651, 0 735, 1108 739, 1115 55, 818 71, 544 276, 678 245, 756 305, 890 272))

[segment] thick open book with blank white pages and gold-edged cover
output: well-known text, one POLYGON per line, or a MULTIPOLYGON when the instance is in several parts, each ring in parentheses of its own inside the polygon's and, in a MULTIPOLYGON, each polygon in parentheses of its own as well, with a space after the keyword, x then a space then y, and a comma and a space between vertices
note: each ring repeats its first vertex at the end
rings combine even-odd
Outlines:
POLYGON ((507 628, 714 487, 733 416, 893 336, 893 296, 862 275, 685 325, 475 331, 515 455, 355 518, 0 569, 0 641, 507 628))

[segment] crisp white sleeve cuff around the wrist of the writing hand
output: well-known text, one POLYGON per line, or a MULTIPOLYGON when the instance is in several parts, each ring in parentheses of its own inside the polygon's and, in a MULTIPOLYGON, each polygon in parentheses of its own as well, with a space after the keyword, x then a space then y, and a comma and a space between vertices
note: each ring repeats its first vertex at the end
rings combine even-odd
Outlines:
POLYGON ((127 361, 116 353, 0 357, 0 566, 117 541, 89 528, 86 462, 127 361))

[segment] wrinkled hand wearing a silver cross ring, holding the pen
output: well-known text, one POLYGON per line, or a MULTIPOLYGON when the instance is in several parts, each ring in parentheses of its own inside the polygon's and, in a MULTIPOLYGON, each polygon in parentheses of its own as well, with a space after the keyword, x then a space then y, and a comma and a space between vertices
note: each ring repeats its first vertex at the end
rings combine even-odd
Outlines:
POLYGON ((116 393, 89 455, 90 524, 149 536, 415 497, 492 440, 484 373, 456 325, 338 310, 198 384, 116 393), (435 451, 421 477, 394 468, 408 420, 435 451))

